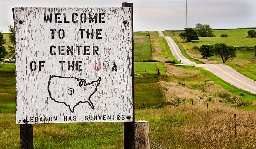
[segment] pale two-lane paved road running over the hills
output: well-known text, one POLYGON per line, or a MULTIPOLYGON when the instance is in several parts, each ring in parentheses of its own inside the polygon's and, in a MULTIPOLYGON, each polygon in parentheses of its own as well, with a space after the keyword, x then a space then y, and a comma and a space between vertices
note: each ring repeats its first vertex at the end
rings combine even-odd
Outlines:
MULTIPOLYGON (((162 31, 158 31, 159 36, 164 37, 162 31)), ((194 62, 185 58, 177 44, 172 40, 171 37, 165 37, 171 53, 177 60, 181 60, 181 63, 191 65, 194 62)), ((223 64, 195 64, 197 67, 203 67, 205 70, 208 70, 214 73, 216 76, 220 77, 224 81, 246 91, 256 94, 256 82, 241 75, 236 70, 230 66, 223 64)))

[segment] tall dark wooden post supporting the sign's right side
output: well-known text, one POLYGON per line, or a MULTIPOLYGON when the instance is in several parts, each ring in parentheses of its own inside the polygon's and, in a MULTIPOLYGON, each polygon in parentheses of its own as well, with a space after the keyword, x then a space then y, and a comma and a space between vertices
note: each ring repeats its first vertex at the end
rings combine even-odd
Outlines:
MULTIPOLYGON (((133 40, 133 4, 124 2, 123 7, 131 7, 131 45, 132 45, 132 121, 124 122, 124 149, 135 148, 135 118, 134 118, 134 40, 133 40)), ((145 70, 146 71, 146 70, 145 70)))

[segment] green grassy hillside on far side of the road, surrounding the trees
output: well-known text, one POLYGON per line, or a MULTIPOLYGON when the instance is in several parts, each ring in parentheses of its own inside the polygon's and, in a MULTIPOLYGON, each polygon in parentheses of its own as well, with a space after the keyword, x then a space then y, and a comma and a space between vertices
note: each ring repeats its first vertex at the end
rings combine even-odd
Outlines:
MULTIPOLYGON (((256 38, 246 37, 248 30, 249 29, 214 30, 216 37, 200 37, 199 41, 194 41, 193 43, 185 43, 181 41, 181 44, 186 47, 187 52, 192 54, 193 57, 200 59, 201 55, 198 50, 194 50, 193 44, 200 46, 202 44, 215 44, 222 42, 233 46, 254 46, 256 44, 256 38), (228 34, 229 37, 221 38, 219 37, 220 34, 228 34), (250 45, 248 43, 250 43, 250 45)), ((179 33, 180 31, 174 32, 175 36, 178 36, 179 33)), ((225 64, 239 71, 242 75, 256 80, 256 60, 253 56, 254 53, 254 50, 237 50, 237 57, 228 60, 225 64)), ((222 63, 220 57, 212 56, 207 59, 215 63, 222 63)))

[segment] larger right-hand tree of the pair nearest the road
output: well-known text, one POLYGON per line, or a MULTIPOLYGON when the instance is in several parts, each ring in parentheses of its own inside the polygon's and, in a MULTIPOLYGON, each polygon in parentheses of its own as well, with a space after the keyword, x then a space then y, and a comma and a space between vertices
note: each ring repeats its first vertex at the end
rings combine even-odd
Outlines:
POLYGON ((230 58, 236 57, 236 48, 223 43, 214 44, 212 50, 215 56, 221 57, 223 63, 226 63, 230 58))

